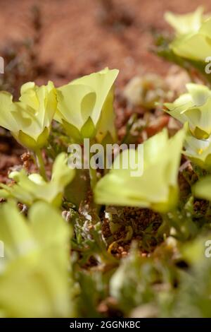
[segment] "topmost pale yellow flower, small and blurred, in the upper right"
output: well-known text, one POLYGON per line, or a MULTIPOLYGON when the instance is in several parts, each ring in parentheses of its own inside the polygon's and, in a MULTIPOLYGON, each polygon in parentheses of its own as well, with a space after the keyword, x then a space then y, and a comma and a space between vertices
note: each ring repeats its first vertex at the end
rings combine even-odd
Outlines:
POLYGON ((198 7, 193 13, 181 15, 167 11, 164 17, 167 23, 174 28, 177 35, 186 35, 190 32, 198 32, 204 20, 203 11, 202 6, 198 7))

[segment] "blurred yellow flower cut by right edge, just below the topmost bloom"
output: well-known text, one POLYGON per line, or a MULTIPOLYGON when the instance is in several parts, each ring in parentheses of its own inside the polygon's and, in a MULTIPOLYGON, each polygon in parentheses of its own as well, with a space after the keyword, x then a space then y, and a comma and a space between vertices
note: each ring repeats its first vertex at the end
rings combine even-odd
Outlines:
MULTIPOLYGON (((184 57, 195 61, 205 61, 211 54, 211 18, 205 20, 198 30, 194 25, 194 30, 178 37, 170 43, 172 51, 184 57)), ((190 27, 191 29, 193 26, 190 27)))

